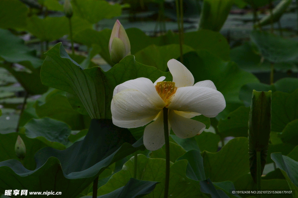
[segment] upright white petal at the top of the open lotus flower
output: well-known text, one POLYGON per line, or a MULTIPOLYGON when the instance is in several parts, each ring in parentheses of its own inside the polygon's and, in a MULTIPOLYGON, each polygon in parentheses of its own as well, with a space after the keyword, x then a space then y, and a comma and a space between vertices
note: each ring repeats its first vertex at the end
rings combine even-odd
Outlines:
POLYGON ((193 74, 178 60, 171 59, 168 61, 167 66, 173 76, 173 82, 176 87, 193 86, 195 79, 193 74))

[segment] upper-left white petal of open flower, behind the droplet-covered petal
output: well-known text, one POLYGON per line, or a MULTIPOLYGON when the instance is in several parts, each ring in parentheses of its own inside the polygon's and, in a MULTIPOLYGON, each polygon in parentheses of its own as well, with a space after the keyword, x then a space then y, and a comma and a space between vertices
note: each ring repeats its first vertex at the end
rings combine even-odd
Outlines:
POLYGON ((166 105, 162 98, 158 95, 152 81, 148 78, 136 78, 117 85, 117 93, 125 89, 135 89, 141 91, 147 96, 148 99, 153 102, 156 107, 163 108, 166 105))

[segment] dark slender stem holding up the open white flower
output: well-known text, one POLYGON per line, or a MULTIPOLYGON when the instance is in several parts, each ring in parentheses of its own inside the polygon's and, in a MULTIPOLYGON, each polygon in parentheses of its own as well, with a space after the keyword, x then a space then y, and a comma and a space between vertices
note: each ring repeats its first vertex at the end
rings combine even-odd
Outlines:
POLYGON ((169 194, 169 182, 170 182, 170 142, 169 142, 169 126, 168 126, 168 109, 164 107, 164 140, 166 147, 166 177, 164 180, 164 198, 169 194))

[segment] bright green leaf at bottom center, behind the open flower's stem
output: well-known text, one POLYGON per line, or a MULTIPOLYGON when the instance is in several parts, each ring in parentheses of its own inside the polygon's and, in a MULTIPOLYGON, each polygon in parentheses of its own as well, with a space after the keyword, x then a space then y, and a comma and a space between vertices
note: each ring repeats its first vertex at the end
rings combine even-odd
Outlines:
MULTIPOLYGON (((121 171, 114 174, 108 183, 101 186, 97 195, 107 194, 117 188, 125 185, 128 180, 134 175, 134 159, 128 160, 121 171)), ((189 180, 185 175, 187 160, 179 160, 176 163, 171 163, 170 167, 170 187, 169 195, 171 197, 206 197, 199 191, 199 182, 189 180)), ((165 159, 146 158, 145 155, 138 155, 137 179, 159 181, 155 189, 149 197, 161 197, 164 194, 164 177, 165 177, 165 159)))

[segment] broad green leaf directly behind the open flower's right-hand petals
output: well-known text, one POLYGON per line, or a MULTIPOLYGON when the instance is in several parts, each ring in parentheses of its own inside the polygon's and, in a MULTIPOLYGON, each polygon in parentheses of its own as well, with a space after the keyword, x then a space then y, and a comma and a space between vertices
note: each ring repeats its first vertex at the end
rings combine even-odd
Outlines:
POLYGON ((239 69, 235 63, 225 62, 206 51, 189 52, 183 56, 183 60, 195 82, 214 82, 226 103, 240 103, 240 88, 249 82, 259 81, 253 74, 239 69))

